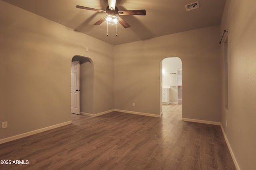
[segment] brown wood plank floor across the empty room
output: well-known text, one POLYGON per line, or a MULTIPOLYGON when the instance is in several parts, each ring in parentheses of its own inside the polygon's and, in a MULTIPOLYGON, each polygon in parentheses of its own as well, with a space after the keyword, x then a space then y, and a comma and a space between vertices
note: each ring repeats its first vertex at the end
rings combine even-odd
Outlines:
POLYGON ((235 170, 220 126, 181 121, 182 105, 161 118, 112 112, 72 114, 72 124, 0 145, 1 170, 235 170))

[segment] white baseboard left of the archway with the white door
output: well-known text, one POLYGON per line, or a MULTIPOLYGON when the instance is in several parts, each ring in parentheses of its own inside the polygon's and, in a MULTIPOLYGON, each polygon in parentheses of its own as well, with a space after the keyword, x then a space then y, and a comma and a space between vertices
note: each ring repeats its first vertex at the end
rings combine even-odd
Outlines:
POLYGON ((71 123, 72 123, 72 121, 67 121, 67 122, 64 122, 64 123, 57 124, 57 125, 52 125, 52 126, 44 127, 42 129, 37 129, 37 130, 34 130, 34 131, 22 133, 22 134, 15 135, 15 136, 12 136, 12 137, 7 137, 7 138, 4 138, 4 139, 0 139, 0 144, 10 142, 10 141, 14 141, 16 139, 20 139, 20 138, 27 137, 27 136, 30 136, 30 135, 34 135, 36 133, 41 133, 41 132, 44 132, 44 131, 48 131, 50 129, 55 129, 57 127, 62 127, 62 126, 65 126, 65 125, 69 125, 71 123))

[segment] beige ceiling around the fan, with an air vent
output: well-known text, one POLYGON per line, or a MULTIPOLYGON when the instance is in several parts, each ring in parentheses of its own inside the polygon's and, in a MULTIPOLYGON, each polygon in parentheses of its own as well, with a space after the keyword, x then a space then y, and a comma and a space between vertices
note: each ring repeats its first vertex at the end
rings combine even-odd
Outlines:
POLYGON ((3 0, 112 45, 219 25, 226 0, 199 0, 199 9, 186 12, 185 5, 197 0, 116 0, 119 10, 146 10, 146 16, 121 16, 131 25, 93 25, 106 16, 76 5, 106 10, 107 0, 3 0))

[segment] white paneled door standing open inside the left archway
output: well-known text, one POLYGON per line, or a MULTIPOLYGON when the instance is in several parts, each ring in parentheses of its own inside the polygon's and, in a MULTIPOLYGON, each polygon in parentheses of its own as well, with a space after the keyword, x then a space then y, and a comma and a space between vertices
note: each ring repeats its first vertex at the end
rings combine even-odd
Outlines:
POLYGON ((71 113, 80 114, 79 61, 71 64, 71 113))

